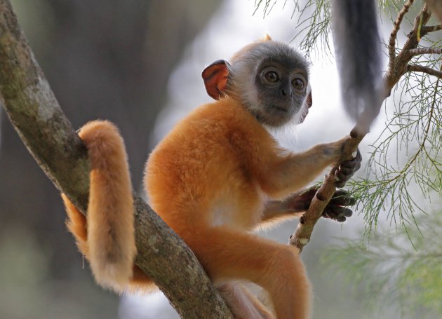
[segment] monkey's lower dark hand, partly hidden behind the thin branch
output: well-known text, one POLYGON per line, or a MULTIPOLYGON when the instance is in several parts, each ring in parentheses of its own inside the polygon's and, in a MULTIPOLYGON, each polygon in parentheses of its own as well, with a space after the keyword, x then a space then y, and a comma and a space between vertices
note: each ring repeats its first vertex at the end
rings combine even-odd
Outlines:
MULTIPOLYGON (((292 210, 305 211, 309 208, 310 203, 312 203, 312 198, 316 194, 318 189, 312 187, 301 193, 294 194, 288 199, 287 205, 292 210)), ((322 217, 334 219, 337 222, 345 222, 347 217, 351 217, 353 212, 347 206, 354 205, 356 203, 356 198, 349 196, 347 191, 342 189, 335 192, 335 195, 330 199, 330 202, 324 209, 322 217)))

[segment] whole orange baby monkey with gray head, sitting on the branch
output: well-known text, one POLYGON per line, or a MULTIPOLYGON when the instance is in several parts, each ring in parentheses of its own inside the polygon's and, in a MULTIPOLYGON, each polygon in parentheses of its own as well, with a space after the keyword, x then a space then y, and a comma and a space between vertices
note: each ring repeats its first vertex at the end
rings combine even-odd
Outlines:
MULTIPOLYGON (((145 170, 150 205, 191 247, 236 318, 274 315, 235 280, 267 290, 276 318, 309 318, 310 285, 298 250, 252 231, 307 208, 313 192, 295 192, 340 161, 345 139, 293 153, 269 134, 268 127, 301 123, 312 105, 308 63, 269 36, 230 62, 214 62, 203 80, 216 101, 192 111, 150 154, 145 170)), ((91 158, 91 195, 87 220, 64 197, 69 229, 100 285, 117 291, 146 287, 149 278, 133 264, 123 140, 105 121, 86 124, 79 135, 91 158)), ((341 184, 359 163, 360 156, 342 163, 341 184)), ((349 201, 335 204, 327 217, 342 221, 351 215, 341 207, 349 201)))

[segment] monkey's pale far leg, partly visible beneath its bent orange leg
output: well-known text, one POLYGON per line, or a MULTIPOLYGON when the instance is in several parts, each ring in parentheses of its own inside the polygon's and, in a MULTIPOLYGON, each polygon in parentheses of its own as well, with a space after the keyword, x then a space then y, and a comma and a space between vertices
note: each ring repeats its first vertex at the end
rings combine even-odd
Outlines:
POLYGON ((263 304, 238 282, 217 286, 217 290, 234 313, 235 319, 274 319, 263 304))

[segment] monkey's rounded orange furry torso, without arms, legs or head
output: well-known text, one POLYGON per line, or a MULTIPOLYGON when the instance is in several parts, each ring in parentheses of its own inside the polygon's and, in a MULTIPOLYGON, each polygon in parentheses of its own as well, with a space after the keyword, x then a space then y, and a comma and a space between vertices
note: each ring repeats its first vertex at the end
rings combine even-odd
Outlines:
POLYGON ((229 97, 203 104, 149 156, 145 188, 152 208, 178 233, 201 223, 252 227, 263 205, 249 165, 261 155, 257 141, 276 145, 241 104, 229 97))

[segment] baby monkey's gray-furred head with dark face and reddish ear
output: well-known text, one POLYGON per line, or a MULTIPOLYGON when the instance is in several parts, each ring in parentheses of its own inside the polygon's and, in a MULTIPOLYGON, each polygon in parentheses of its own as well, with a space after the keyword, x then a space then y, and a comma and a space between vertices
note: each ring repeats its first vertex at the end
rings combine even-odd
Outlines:
POLYGON ((227 69, 212 92, 207 83, 213 81, 215 72, 205 70, 206 77, 203 72, 209 95, 240 100, 261 123, 276 127, 293 118, 301 123, 312 105, 309 64, 286 43, 267 37, 239 50, 230 63, 219 60, 213 65, 218 71, 223 66, 227 69))

